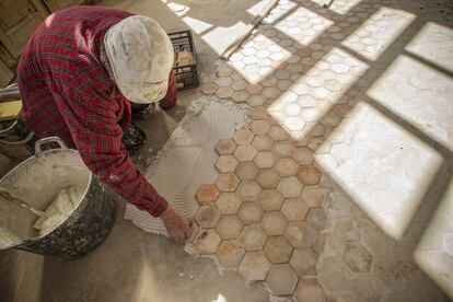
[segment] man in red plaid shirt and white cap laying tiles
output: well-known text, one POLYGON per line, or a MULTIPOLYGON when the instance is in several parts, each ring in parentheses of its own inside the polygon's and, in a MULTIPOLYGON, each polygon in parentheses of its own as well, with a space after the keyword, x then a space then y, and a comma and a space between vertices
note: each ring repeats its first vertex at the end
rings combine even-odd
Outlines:
MULTIPOLYGON (((159 217, 177 241, 189 223, 137 171, 124 131, 131 103, 176 103, 174 50, 152 19, 102 7, 49 15, 18 67, 22 119, 38 137, 57 136, 124 199, 159 217)), ((137 131, 131 131, 137 132, 137 131)))

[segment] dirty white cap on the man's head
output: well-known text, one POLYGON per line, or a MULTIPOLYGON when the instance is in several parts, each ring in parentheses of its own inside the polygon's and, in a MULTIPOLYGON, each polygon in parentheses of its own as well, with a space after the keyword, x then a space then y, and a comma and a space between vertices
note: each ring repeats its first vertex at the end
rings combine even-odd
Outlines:
POLYGON ((158 22, 142 15, 126 18, 108 30, 104 44, 123 95, 140 104, 164 98, 174 50, 158 22))

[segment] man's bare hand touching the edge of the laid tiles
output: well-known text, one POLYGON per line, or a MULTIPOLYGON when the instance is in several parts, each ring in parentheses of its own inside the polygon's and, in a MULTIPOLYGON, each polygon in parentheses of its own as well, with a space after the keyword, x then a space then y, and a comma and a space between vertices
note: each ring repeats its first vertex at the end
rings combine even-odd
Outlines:
POLYGON ((189 223, 170 204, 159 218, 164 222, 172 240, 183 242, 190 237, 191 229, 189 223))

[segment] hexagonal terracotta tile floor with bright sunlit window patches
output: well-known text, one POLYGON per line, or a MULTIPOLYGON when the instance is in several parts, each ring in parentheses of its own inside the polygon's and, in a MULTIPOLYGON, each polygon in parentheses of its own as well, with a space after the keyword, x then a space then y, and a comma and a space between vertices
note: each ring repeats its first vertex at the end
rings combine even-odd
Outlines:
POLYGON ((323 2, 280 0, 205 80, 251 124, 216 148, 193 244, 281 299, 446 301, 453 5, 323 2))

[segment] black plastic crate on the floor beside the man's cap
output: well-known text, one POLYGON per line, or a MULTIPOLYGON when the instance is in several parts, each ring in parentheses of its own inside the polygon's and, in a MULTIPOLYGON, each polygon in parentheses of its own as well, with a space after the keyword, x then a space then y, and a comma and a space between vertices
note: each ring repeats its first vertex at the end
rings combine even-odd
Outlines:
POLYGON ((176 76, 178 90, 196 88, 199 85, 197 71, 197 53, 195 50, 194 38, 190 31, 169 33, 175 55, 181 51, 190 51, 194 56, 194 63, 187 66, 173 67, 176 76))

